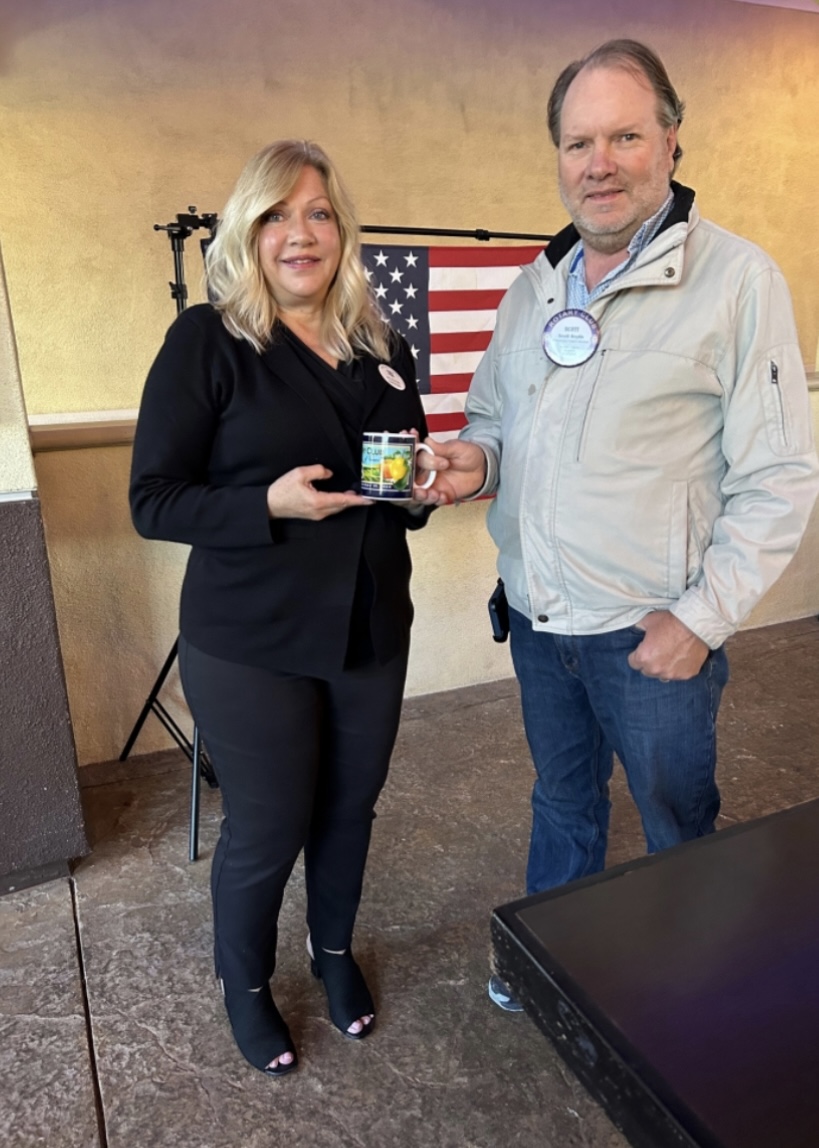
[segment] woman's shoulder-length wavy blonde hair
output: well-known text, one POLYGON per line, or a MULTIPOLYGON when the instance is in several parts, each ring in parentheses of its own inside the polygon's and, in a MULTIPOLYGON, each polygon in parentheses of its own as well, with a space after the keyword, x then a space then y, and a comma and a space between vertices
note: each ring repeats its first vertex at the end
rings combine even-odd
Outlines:
POLYGON ((353 201, 330 156, 310 140, 277 140, 246 164, 208 248, 208 297, 232 335, 257 351, 269 346, 278 307, 258 262, 258 233, 264 215, 287 199, 306 165, 322 177, 341 240, 339 267, 324 301, 322 341, 346 362, 356 351, 388 359, 392 331, 368 287, 353 201))

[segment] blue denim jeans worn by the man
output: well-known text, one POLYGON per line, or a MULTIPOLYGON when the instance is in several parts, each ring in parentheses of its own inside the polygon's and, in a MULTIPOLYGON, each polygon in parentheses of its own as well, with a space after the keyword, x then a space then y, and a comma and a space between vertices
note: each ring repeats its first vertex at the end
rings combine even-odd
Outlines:
POLYGON ((533 630, 510 610, 512 661, 538 778, 527 894, 600 872, 613 754, 623 762, 649 853, 713 832, 719 813, 717 711, 728 681, 712 650, 687 682, 628 665, 636 627, 570 636, 533 630))

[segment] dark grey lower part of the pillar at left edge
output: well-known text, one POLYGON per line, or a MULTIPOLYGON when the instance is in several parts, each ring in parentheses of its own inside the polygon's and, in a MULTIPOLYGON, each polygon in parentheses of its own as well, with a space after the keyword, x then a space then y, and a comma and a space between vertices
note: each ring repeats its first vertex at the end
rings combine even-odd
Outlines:
POLYGON ((40 504, 0 502, 0 889, 87 852, 40 504))

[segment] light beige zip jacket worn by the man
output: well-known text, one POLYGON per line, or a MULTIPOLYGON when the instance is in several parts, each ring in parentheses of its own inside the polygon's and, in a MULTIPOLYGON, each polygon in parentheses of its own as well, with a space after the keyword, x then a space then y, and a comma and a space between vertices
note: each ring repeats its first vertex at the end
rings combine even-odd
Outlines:
POLYGON ((575 241, 561 233, 510 287, 466 402, 499 572, 535 629, 670 608, 716 649, 787 566, 818 489, 787 285, 675 185, 665 228, 589 308, 598 350, 559 367, 541 334, 575 241))

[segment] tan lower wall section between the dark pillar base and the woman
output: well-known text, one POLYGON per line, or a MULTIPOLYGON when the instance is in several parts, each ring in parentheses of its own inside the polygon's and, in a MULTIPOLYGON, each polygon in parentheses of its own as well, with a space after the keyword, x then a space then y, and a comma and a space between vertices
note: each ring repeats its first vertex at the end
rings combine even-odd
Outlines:
MULTIPOLYGON (((136 534, 130 464, 128 447, 36 459, 80 765, 119 754, 177 634, 187 551, 136 534)), ((162 699, 190 729, 176 672, 162 699)), ((172 744, 149 718, 134 753, 172 744)))

